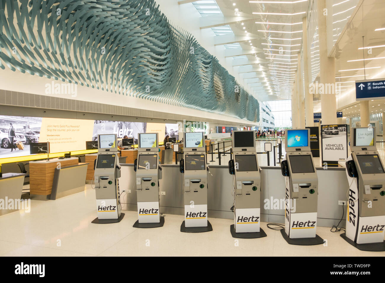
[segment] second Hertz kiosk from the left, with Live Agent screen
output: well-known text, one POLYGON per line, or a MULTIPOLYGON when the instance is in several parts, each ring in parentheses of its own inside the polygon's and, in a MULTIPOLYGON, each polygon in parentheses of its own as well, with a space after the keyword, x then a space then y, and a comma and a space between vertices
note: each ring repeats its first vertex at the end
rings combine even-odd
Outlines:
POLYGON ((162 227, 164 216, 160 216, 159 211, 159 180, 162 179, 162 168, 159 165, 157 133, 138 134, 138 157, 134 161, 134 171, 138 220, 133 227, 162 227))

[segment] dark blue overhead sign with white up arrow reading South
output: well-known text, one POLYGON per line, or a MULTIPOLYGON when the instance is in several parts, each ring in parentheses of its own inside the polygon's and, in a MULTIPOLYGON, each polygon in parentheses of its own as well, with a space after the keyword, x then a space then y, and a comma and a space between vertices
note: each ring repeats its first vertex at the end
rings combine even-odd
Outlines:
POLYGON ((385 79, 356 80, 356 99, 383 99, 385 97, 385 79))

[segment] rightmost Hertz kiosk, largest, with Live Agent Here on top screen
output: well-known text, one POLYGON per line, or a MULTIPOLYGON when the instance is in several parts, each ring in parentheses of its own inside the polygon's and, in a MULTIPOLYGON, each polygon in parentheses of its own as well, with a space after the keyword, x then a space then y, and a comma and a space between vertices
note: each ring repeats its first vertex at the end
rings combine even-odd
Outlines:
POLYGON ((385 251, 385 171, 375 127, 352 128, 350 150, 346 233, 341 237, 362 251, 385 251))

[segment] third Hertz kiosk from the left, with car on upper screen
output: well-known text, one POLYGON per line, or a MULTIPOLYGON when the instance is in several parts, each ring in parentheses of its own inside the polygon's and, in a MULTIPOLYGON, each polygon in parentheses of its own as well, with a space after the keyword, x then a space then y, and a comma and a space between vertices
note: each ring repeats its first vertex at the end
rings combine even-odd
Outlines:
POLYGON ((183 174, 184 221, 181 232, 212 231, 207 217, 207 171, 203 132, 183 133, 183 159, 179 162, 183 174))

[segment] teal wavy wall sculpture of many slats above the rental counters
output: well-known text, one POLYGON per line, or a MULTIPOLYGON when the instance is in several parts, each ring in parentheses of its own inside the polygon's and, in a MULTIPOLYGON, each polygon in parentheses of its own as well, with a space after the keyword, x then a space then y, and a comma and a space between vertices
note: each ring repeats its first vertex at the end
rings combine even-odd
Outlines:
POLYGON ((0 0, 0 68, 259 122, 259 103, 153 0, 0 0))

